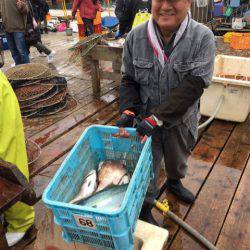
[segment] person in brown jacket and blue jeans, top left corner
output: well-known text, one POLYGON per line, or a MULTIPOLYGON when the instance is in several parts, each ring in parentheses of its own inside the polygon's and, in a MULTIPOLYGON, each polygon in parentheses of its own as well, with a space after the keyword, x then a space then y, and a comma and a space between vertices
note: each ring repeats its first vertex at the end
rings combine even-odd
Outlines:
POLYGON ((0 0, 0 12, 8 46, 16 65, 29 63, 25 30, 29 8, 26 0, 0 0))

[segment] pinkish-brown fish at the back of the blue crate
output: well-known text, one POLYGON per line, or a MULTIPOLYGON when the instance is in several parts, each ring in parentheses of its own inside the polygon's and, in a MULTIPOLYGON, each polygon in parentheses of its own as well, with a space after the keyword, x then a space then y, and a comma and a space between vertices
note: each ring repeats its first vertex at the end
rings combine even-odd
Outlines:
POLYGON ((130 175, 120 161, 108 160, 99 164, 98 181, 99 185, 96 192, 108 187, 128 184, 130 175))

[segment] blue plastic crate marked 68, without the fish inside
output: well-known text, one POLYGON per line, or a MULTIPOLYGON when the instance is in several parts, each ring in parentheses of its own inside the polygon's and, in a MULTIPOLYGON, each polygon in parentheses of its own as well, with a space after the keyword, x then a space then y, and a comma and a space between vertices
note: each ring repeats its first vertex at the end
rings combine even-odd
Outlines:
POLYGON ((43 194, 55 222, 68 242, 80 242, 102 249, 132 249, 133 232, 153 177, 151 139, 141 144, 135 129, 130 138, 117 138, 111 126, 88 127, 62 163, 43 194), (119 210, 109 212, 69 204, 79 191, 84 176, 106 159, 125 160, 133 176, 119 210))

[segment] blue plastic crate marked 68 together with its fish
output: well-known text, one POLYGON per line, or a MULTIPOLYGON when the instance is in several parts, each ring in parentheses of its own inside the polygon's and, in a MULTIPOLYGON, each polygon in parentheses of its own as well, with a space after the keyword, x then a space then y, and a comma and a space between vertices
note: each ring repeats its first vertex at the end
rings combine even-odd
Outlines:
POLYGON ((133 233, 153 177, 151 139, 136 130, 93 125, 79 138, 45 189, 43 201, 66 242, 133 249, 133 233))

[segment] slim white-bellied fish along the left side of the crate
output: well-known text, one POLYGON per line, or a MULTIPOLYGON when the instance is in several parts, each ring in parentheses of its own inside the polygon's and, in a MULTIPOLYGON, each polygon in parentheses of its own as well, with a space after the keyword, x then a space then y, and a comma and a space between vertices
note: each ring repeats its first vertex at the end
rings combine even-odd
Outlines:
POLYGON ((79 201, 91 196, 97 188, 97 173, 91 170, 84 178, 83 184, 77 196, 70 203, 78 203, 79 201))

